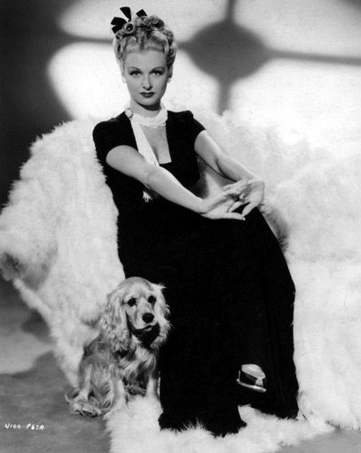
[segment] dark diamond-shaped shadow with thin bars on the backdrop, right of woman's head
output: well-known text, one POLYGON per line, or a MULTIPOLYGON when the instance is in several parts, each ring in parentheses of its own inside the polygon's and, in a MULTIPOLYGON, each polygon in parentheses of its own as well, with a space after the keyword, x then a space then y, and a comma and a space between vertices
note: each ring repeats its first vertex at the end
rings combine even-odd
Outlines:
MULTIPOLYGON (((355 3, 356 0, 347 0, 355 3)), ((179 43, 194 65, 218 81, 218 113, 229 106, 232 85, 248 77, 274 58, 333 65, 361 65, 359 57, 288 52, 272 49, 252 31, 234 23, 237 0, 228 0, 225 17, 196 33, 190 40, 179 43)))

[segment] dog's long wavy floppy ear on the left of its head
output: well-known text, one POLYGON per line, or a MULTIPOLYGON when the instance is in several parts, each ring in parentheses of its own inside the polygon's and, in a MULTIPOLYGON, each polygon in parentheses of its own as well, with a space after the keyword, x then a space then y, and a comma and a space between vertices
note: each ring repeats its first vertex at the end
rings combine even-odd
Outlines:
POLYGON ((101 333, 111 343, 113 352, 126 348, 129 339, 123 296, 124 290, 121 286, 110 293, 104 313, 99 320, 101 333))

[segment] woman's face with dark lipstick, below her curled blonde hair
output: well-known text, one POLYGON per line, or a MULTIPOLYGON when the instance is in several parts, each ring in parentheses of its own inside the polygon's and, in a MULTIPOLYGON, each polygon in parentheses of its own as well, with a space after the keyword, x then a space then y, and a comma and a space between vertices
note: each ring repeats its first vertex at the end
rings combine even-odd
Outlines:
POLYGON ((131 98, 130 106, 138 113, 157 110, 160 107, 167 82, 171 77, 165 55, 159 50, 138 50, 129 52, 122 71, 131 98))

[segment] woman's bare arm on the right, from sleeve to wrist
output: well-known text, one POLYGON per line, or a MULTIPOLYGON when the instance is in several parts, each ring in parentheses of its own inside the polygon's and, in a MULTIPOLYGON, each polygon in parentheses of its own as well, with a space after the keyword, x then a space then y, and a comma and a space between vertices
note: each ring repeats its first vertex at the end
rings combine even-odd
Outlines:
POLYGON ((238 160, 229 156, 221 147, 203 130, 196 138, 194 150, 215 172, 221 176, 240 181, 240 179, 258 179, 238 160))

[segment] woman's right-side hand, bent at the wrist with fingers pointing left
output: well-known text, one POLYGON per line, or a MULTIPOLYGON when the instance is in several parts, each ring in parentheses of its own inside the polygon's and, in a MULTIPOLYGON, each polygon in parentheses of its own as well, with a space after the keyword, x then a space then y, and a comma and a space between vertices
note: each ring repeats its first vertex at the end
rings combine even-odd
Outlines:
POLYGON ((233 212, 239 206, 248 203, 241 214, 244 220, 245 216, 247 216, 253 208, 262 203, 263 198, 265 197, 265 181, 262 181, 262 179, 241 179, 240 181, 223 186, 223 191, 228 192, 232 188, 236 191, 239 187, 244 189, 241 191, 237 200, 234 201, 228 211, 233 212))

